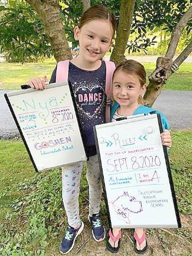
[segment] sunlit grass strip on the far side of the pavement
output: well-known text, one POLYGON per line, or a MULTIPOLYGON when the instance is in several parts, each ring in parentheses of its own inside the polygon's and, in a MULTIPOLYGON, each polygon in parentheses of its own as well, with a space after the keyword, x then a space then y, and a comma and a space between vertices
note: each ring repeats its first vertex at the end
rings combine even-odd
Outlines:
MULTIPOLYGON (((46 60, 42 63, 0 63, 0 89, 20 89, 20 85, 26 84, 28 79, 47 75, 48 80, 55 68, 55 60, 46 60)), ((147 76, 155 69, 155 63, 143 63, 147 76)), ((183 63, 180 69, 172 74, 164 85, 166 90, 192 91, 192 65, 183 63)))

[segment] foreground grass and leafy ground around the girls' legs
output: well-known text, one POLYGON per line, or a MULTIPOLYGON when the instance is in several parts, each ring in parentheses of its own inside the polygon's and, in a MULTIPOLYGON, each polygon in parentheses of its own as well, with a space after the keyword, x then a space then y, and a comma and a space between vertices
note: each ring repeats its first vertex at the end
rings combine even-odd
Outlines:
MULTIPOLYGON (((172 131, 172 149, 169 152, 171 171, 178 208, 185 218, 192 213, 190 202, 192 188, 190 180, 191 142, 191 130, 172 131)), ((20 140, 0 141, 0 159, 0 254, 2 256, 59 255, 58 246, 66 225, 66 216, 62 208, 60 170, 55 169, 36 174, 23 142, 20 140)), ((85 167, 81 178, 79 203, 81 218, 87 222, 88 187, 85 167)), ((107 226, 104 201, 101 202, 101 215, 103 215, 104 224, 107 226)), ((188 218, 190 219, 190 217, 188 218)), ((182 249, 183 252, 188 251, 188 245, 178 244, 178 237, 173 235, 172 240, 168 242, 166 233, 162 233, 159 229, 149 229, 149 237, 151 232, 153 236, 159 237, 162 248, 166 245, 166 248, 169 249, 169 246, 176 243, 175 246, 178 246, 180 251, 182 249)), ((175 229, 172 232, 188 239, 188 244, 190 243, 188 229, 175 229)), ((87 233, 84 232, 84 235, 86 236, 87 233)), ((81 247, 79 240, 78 248, 81 247)), ((92 252, 97 251, 97 247, 100 246, 96 246, 92 240, 89 243, 88 248, 91 246, 92 252)), ((158 248, 158 252, 163 250, 162 248, 158 248)), ((89 255, 85 252, 87 249, 83 248, 79 255, 89 255)), ((103 253, 105 252, 102 251, 101 255, 103 253)), ((106 252, 106 255, 110 254, 106 252)), ((186 252, 186 255, 189 254, 186 252)))

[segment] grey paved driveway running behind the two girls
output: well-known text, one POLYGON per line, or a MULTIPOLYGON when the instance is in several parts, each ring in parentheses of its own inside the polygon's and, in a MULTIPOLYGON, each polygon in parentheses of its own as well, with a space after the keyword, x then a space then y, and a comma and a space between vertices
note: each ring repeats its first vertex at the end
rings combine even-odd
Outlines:
MULTIPOLYGON (((0 91, 0 139, 18 136, 19 132, 0 91)), ((192 129, 192 91, 162 91, 153 105, 167 116, 171 128, 192 129)))

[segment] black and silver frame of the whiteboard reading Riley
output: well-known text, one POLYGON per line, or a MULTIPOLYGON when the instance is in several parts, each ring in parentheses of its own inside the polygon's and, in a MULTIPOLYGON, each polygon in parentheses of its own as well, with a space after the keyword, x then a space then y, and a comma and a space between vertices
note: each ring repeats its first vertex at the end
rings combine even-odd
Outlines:
MULTIPOLYGON (((158 119, 159 132, 162 133, 163 129, 162 129, 162 123, 161 123, 161 116, 160 116, 160 114, 155 114, 155 115, 157 116, 157 119, 158 119)), ((128 124, 132 121, 139 120, 140 116, 142 116, 142 115, 139 114, 139 115, 136 115, 136 116, 124 117, 124 118, 121 118, 119 121, 115 121, 115 122, 111 122, 111 123, 107 123, 107 124, 109 125, 109 127, 110 126, 117 126, 117 122, 119 122, 119 124, 123 124, 123 123, 126 123, 126 120, 129 120, 127 122, 127 124, 128 124)), ((143 114, 143 116, 146 116, 146 114, 143 114)), ((104 126, 106 126, 106 124, 100 124, 99 126, 104 127, 104 126)), ((98 146, 97 126, 94 126, 94 137, 95 137, 95 145, 96 145, 97 155, 98 155, 98 162, 99 162, 100 171, 101 171, 101 181, 102 181, 102 184, 103 184, 103 193, 104 193, 105 206, 106 206, 106 209, 107 209, 108 223, 110 225, 110 228, 112 228, 110 210, 109 210, 109 207, 108 207, 108 199, 107 199, 107 193, 106 193, 106 188, 105 188, 103 167, 102 167, 102 163, 101 163, 100 149, 99 149, 99 146, 98 146)), ((177 206, 177 199, 176 199, 176 196, 175 196, 174 184, 173 184, 173 181, 172 181, 172 174, 171 174, 171 169, 170 169, 170 165, 169 165, 167 146, 162 145, 162 148, 164 150, 164 157, 165 157, 165 163, 166 163, 166 166, 167 166, 169 185, 170 185, 170 188, 171 188, 171 196, 172 196, 172 200, 173 200, 173 203, 174 203, 175 216, 176 216, 176 219, 177 219, 177 226, 176 227, 170 225, 170 226, 166 226, 166 228, 181 228, 181 220, 180 220, 180 215, 179 215, 179 212, 178 212, 178 206, 177 206)), ((163 226, 158 225, 158 228, 164 228, 164 227, 165 227, 164 225, 163 226)), ((121 228, 121 227, 119 227, 119 228, 121 228)), ((133 227, 127 225, 127 228, 133 228, 133 227)), ((139 225, 139 226, 134 226, 134 228, 157 228, 157 226, 148 225, 148 227, 146 227, 146 226, 142 227, 141 225, 139 225)))

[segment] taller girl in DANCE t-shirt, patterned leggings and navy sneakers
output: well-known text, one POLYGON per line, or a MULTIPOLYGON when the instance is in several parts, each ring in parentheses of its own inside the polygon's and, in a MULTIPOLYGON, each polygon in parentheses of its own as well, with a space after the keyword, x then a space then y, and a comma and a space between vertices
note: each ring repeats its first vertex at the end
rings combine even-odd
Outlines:
MULTIPOLYGON (((96 155, 93 126, 105 123, 105 62, 101 60, 110 49, 116 23, 114 17, 104 6, 89 8, 74 28, 75 40, 79 41, 79 55, 69 62, 69 76, 78 106, 78 113, 85 140, 87 180, 89 184, 89 215, 92 236, 97 242, 105 238, 105 229, 100 219, 100 200, 102 193, 101 174, 96 155), (91 96, 90 96, 91 95, 91 96), (94 95, 94 97, 92 96, 94 95), (93 97, 93 98, 92 98, 93 97)), ((65 71, 64 71, 65 72, 65 71)), ((50 82, 56 82, 57 66, 50 82)), ((28 82, 31 88, 44 89, 46 76, 28 82)), ((79 217, 79 184, 83 163, 62 167, 62 197, 68 217, 68 228, 60 245, 60 252, 66 254, 74 246, 76 237, 84 229, 79 217)))

